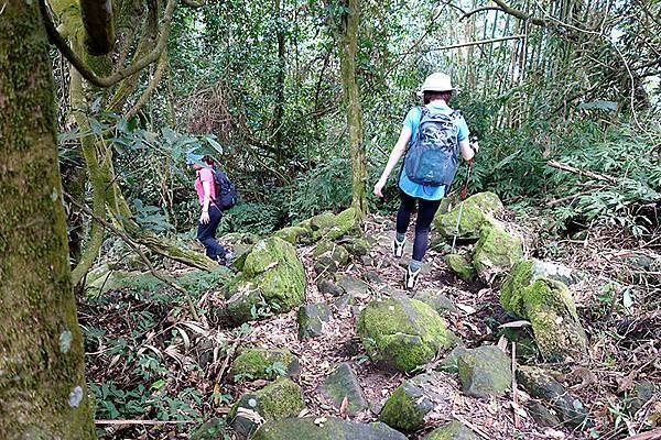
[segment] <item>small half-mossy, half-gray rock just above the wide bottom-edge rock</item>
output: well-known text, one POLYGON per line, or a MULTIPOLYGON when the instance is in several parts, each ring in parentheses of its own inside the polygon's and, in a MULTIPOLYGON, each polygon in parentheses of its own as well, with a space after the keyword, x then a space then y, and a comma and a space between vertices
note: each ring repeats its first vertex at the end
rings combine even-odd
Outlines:
POLYGON ((424 426, 424 417, 434 409, 422 386, 404 381, 386 400, 379 421, 400 431, 413 432, 424 426))

